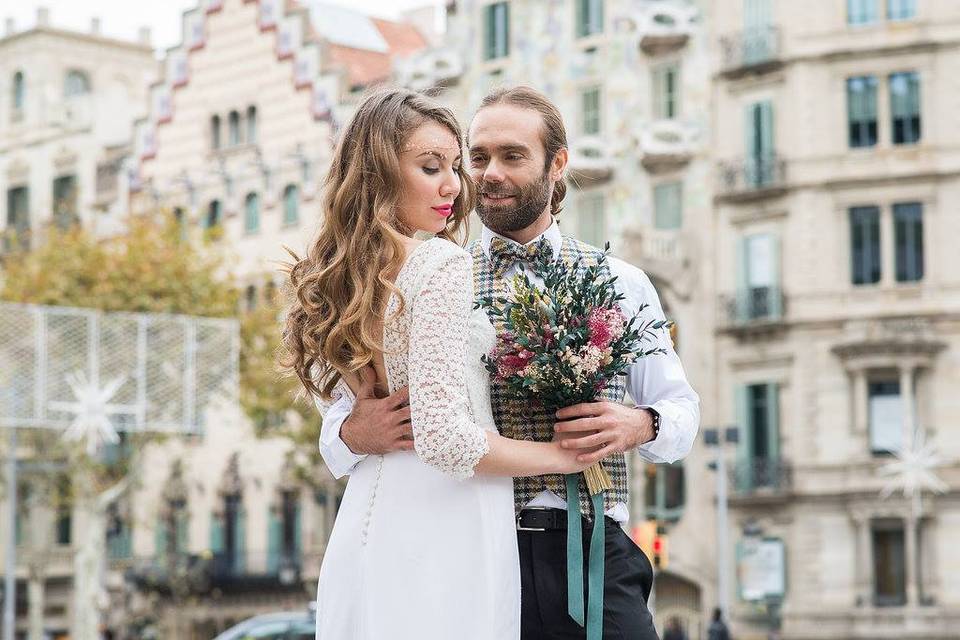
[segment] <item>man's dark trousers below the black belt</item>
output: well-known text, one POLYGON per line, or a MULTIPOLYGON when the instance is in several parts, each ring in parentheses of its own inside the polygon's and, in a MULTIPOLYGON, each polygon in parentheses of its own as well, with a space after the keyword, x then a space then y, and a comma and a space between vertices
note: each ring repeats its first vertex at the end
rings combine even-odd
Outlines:
MULTIPOLYGON (((590 557, 590 531, 583 521, 584 578, 590 557)), ((606 518, 603 586, 604 640, 657 640, 647 597, 653 567, 620 525, 606 518)), ((586 629, 567 613, 567 532, 518 531, 520 546, 521 640, 573 640, 586 629)), ((584 580, 586 583, 586 580, 584 580)), ((589 603, 584 585, 584 602, 589 603)))

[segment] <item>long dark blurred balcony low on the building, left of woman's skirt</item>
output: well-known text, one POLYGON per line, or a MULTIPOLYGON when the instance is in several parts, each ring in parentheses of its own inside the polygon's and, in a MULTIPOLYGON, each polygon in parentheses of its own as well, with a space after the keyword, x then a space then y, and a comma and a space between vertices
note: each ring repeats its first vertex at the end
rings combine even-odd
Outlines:
POLYGON ((294 553, 177 554, 172 560, 142 558, 132 562, 126 579, 144 591, 205 594, 263 589, 299 590, 301 560, 294 553))

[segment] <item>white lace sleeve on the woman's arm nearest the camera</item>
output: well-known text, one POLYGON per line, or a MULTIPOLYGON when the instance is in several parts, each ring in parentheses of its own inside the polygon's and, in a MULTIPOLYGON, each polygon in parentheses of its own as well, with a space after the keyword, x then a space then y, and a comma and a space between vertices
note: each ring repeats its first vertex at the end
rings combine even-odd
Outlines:
POLYGON ((413 297, 408 351, 410 414, 417 455, 468 478, 489 450, 467 394, 466 364, 473 305, 471 259, 455 246, 429 262, 413 297))

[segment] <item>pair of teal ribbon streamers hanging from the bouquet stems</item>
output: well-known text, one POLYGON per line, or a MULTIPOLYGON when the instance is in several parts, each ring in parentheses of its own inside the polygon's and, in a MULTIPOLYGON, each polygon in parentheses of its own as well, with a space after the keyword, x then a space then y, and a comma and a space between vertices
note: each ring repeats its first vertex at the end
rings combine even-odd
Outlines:
MULTIPOLYGON (((580 514, 580 474, 568 474, 567 481, 567 612, 584 626, 583 605, 583 518, 580 514)), ((591 496, 593 531, 590 534, 590 566, 587 571, 589 607, 586 614, 587 640, 603 638, 603 492, 591 496)))

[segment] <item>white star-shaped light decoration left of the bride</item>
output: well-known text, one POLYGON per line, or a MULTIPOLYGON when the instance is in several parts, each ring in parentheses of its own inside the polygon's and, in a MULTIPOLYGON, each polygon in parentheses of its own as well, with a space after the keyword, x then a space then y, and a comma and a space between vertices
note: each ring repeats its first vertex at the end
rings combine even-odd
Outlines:
POLYGON ((94 455, 107 444, 120 442, 120 436, 110 424, 110 416, 129 415, 135 412, 130 405, 111 404, 110 399, 123 386, 125 377, 114 378, 101 389, 82 371, 67 374, 67 384, 73 391, 73 402, 51 401, 48 407, 54 411, 74 414, 73 422, 63 434, 64 440, 74 442, 86 439, 87 455, 94 455))

